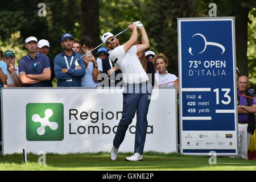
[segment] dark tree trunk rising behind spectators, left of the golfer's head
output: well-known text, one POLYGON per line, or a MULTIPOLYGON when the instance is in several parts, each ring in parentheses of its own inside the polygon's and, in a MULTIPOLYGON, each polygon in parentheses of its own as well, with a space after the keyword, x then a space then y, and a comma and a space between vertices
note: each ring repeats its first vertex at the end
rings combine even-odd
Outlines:
POLYGON ((81 36, 90 36, 94 47, 100 44, 100 1, 81 1, 81 36))

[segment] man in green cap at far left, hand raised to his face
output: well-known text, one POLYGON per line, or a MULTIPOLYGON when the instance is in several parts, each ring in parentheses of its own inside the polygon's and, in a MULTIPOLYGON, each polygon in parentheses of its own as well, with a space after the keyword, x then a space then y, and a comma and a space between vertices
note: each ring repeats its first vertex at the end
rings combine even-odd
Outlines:
POLYGON ((19 80, 19 69, 14 64, 15 63, 15 54, 13 51, 5 51, 3 53, 3 61, 7 64, 7 87, 21 87, 23 86, 19 80))

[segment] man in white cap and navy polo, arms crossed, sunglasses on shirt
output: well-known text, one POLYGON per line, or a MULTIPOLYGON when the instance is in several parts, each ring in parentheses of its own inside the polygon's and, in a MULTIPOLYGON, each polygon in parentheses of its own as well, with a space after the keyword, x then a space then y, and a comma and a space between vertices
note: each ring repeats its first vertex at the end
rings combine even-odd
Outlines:
POLYGON ((30 36, 25 40, 27 55, 19 60, 19 78, 24 87, 45 87, 51 80, 49 58, 37 51, 38 40, 30 36))

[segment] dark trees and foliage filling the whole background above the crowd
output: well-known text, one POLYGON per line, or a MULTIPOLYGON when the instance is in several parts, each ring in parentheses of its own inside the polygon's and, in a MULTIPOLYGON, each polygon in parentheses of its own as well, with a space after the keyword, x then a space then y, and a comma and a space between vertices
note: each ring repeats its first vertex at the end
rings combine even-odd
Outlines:
MULTIPOLYGON (((49 56, 55 57, 63 51, 60 37, 64 32, 71 33, 76 40, 84 35, 92 36, 94 46, 98 46, 104 32, 117 34, 132 22, 141 20, 150 38, 150 49, 155 53, 164 53, 170 63, 168 71, 178 75, 177 18, 208 16, 208 5, 212 1, 45 0, 46 17, 38 16, 40 2, 0 1, 1 42, 13 44, 10 38, 16 32, 20 32, 20 38, 13 45, 20 45, 23 49, 24 40, 28 36, 47 39, 51 46, 49 56)), ((217 16, 236 17, 237 67, 243 75, 248 75, 248 71, 253 73, 250 67, 254 68, 256 63, 253 63, 255 57, 249 57, 249 61, 247 59, 247 27, 249 11, 254 8, 253 12, 256 12, 256 2, 216 0, 214 3, 217 5, 217 16)), ((131 32, 127 31, 118 36, 120 43, 125 43, 130 35, 131 32)), ((250 40, 255 41, 252 38, 250 40)))

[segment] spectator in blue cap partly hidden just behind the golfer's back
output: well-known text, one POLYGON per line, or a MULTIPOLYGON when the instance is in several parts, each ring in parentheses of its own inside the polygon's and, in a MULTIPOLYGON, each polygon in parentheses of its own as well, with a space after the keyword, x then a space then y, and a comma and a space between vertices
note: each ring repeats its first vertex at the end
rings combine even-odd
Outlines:
MULTIPOLYGON (((104 80, 104 84, 101 84, 102 86, 116 86, 117 83, 119 81, 122 80, 122 76, 119 75, 118 80, 115 80, 115 76, 117 76, 118 74, 122 74, 121 70, 117 67, 117 65, 114 65, 114 63, 112 63, 112 61, 109 59, 109 50, 106 47, 101 47, 98 49, 97 51, 98 57, 100 54, 102 54, 101 58, 102 59, 102 74, 105 74, 106 77, 108 77, 108 83, 105 82, 106 80, 104 80), (104 54, 102 54, 102 52, 104 52, 104 54)), ((102 76, 104 77, 104 76, 102 76)), ((105 77, 104 77, 105 78, 105 77)), ((122 84, 120 84, 122 85, 122 84)))

